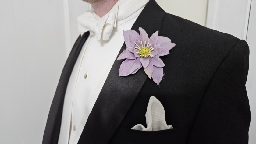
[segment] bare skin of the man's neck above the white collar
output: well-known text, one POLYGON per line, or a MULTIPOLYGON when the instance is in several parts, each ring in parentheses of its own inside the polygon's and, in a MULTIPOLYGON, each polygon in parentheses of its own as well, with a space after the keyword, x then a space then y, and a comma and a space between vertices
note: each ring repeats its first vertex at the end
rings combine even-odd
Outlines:
POLYGON ((102 17, 112 9, 118 0, 101 0, 100 2, 91 3, 94 12, 102 17))

